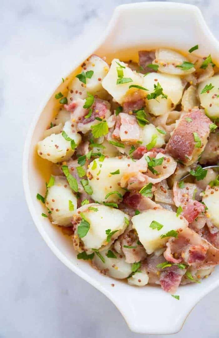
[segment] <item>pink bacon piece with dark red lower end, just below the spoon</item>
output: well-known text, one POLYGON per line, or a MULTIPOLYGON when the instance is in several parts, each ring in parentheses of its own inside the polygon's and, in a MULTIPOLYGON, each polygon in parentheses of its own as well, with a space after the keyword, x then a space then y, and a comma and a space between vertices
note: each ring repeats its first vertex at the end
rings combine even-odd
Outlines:
POLYGON ((205 211, 205 206, 193 200, 193 194, 196 189, 196 185, 192 183, 185 183, 184 188, 179 188, 178 183, 173 185, 173 200, 176 207, 181 206, 183 211, 181 213, 189 223, 192 223, 200 212, 205 211))

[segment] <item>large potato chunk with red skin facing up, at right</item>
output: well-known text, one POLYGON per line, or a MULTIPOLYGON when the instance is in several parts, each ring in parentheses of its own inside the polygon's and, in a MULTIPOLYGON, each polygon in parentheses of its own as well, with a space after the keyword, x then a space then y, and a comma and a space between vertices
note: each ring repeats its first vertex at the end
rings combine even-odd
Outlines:
POLYGON ((210 124, 211 120, 199 109, 183 114, 167 143, 166 152, 185 165, 191 165, 197 161, 208 142, 210 124), (200 147, 195 147, 194 132, 201 141, 200 147))

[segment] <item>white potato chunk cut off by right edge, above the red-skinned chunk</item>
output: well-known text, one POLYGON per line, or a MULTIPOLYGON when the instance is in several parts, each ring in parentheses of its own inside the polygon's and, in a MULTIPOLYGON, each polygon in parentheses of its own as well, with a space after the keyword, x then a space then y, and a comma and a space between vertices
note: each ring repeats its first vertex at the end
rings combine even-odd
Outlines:
POLYGON ((198 95, 206 115, 212 120, 219 118, 219 75, 215 75, 210 79, 201 82, 198 86, 198 95), (209 92, 201 94, 204 87, 210 83, 214 88, 209 92))

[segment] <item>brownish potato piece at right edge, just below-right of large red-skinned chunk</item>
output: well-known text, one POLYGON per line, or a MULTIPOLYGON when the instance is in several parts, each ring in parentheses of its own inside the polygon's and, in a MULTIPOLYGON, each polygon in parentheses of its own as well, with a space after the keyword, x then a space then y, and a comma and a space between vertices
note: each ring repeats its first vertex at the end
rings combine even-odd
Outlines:
POLYGON ((219 135, 218 129, 210 134, 210 139, 204 148, 199 162, 201 164, 215 164, 219 161, 219 135))

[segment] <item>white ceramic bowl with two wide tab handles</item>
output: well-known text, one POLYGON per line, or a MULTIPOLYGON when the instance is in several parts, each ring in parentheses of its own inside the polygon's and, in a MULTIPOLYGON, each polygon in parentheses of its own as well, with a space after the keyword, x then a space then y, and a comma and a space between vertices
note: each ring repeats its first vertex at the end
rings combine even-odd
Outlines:
MULTIPOLYGON (((90 54, 106 55, 120 59, 136 59, 139 49, 170 47, 187 51, 198 44, 198 54, 219 63, 219 43, 207 27, 200 10, 192 5, 170 2, 145 2, 118 6, 108 28, 98 45, 74 60, 74 70, 90 54)), ((70 74, 72 70, 66 70, 70 74)), ((64 91, 72 76, 54 89, 64 91), (58 87, 58 88, 57 88, 58 87)), ((63 75, 63 74, 62 74, 63 75)), ((50 221, 41 216, 42 203, 36 193, 45 192, 45 181, 50 176, 50 163, 36 156, 35 145, 42 138, 55 111, 57 100, 54 91, 46 98, 36 113, 30 127, 24 150, 23 182, 26 199, 33 220, 54 254, 72 271, 103 292, 116 305, 130 329, 138 333, 176 333, 195 306, 207 293, 219 285, 219 270, 201 284, 181 286, 177 291, 180 301, 165 293, 160 287, 133 287, 125 282, 101 275, 87 262, 78 261, 72 243, 50 221), (43 171, 42 171, 43 169, 43 171), (115 284, 115 287, 111 286, 115 284)))

